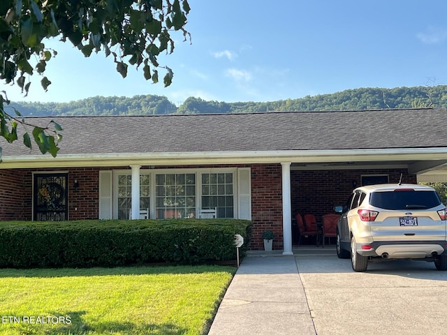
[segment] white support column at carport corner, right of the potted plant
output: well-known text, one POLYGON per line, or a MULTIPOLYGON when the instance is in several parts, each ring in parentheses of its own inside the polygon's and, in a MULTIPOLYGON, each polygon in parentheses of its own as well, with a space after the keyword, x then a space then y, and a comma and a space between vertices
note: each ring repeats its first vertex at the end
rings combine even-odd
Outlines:
POLYGON ((284 236, 283 255, 292 251, 292 205, 291 205, 291 163, 281 163, 282 172, 282 231, 284 236))

